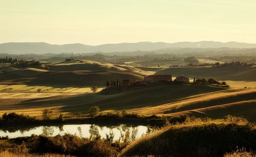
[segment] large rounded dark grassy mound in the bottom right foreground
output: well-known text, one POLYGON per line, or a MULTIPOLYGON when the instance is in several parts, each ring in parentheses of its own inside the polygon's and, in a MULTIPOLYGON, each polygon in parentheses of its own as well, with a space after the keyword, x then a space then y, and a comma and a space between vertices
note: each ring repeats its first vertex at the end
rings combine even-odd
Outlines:
POLYGON ((256 150, 256 129, 245 119, 187 118, 126 147, 122 156, 223 156, 237 147, 256 150))

